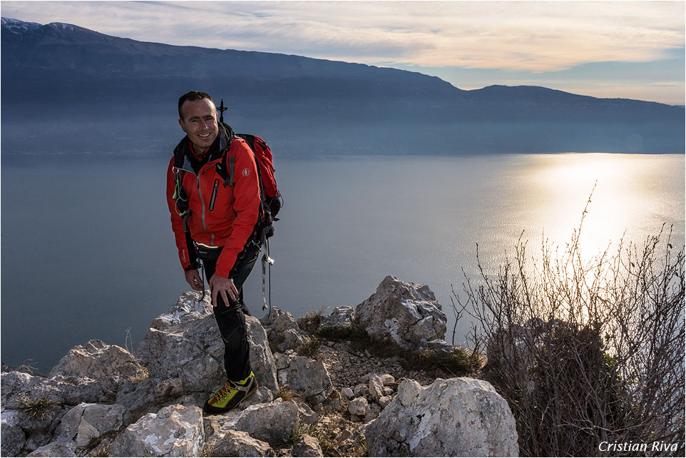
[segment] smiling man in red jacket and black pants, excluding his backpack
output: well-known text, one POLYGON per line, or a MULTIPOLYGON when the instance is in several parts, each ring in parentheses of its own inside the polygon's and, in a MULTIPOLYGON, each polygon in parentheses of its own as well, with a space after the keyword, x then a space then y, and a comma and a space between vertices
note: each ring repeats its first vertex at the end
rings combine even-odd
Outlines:
POLYGON ((210 279, 212 305, 224 341, 227 381, 205 403, 205 412, 227 412, 257 390, 250 370, 242 285, 260 253, 254 237, 260 215, 255 156, 231 128, 217 123, 207 93, 179 98, 179 125, 186 136, 167 171, 167 201, 179 259, 188 284, 205 290, 198 258, 210 279), (227 178, 233 168, 232 179, 227 178))

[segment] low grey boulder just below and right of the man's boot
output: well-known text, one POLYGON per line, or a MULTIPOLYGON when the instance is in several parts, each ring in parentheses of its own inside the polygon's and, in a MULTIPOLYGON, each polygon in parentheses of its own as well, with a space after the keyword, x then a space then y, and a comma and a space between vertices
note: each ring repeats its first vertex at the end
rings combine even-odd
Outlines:
POLYGON ((245 431, 270 444, 285 444, 300 424, 307 424, 307 417, 301 414, 297 404, 278 398, 274 402, 247 407, 233 417, 227 427, 245 431))

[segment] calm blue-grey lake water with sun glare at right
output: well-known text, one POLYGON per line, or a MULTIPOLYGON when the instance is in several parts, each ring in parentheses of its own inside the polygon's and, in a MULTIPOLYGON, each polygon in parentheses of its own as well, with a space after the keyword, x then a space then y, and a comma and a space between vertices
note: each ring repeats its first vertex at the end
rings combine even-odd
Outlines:
MULTIPOLYGON (((187 290, 164 201, 166 164, 2 156, 4 364, 31 359, 47 372, 92 338, 123 346, 130 329, 138 342, 187 290)), ((683 155, 277 159, 276 167, 285 207, 270 243, 272 305, 296 316, 357 305, 389 274, 427 283, 447 306, 461 269, 476 276, 476 243, 491 271, 522 230, 532 248, 542 236, 563 246, 596 180, 585 253, 624 233, 644 240, 662 223, 684 243, 683 155)), ((262 316, 259 266, 246 294, 262 316)))

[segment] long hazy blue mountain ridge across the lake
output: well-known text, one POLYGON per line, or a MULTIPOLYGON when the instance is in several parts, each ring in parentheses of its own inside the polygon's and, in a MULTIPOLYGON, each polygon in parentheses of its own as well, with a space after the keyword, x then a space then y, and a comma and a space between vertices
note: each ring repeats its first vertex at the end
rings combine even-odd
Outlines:
MULTIPOLYGON (((62 123, 57 132, 65 134, 78 130, 68 121, 86 120, 93 141, 112 148, 122 138, 178 136, 176 100, 190 88, 224 98, 227 121, 293 153, 685 148, 684 109, 661 103, 534 86, 463 91, 394 68, 147 43, 61 23, 3 18, 1 83, 4 149, 18 148, 14 128, 23 135, 19 120, 26 117, 62 123), (6 116, 8 107, 14 116, 6 116)), ((49 148, 43 140, 36 143, 49 148)))

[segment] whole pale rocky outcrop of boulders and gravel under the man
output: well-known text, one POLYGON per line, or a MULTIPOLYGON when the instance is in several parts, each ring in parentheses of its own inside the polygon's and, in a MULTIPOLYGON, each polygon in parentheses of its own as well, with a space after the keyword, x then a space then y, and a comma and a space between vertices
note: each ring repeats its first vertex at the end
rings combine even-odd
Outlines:
POLYGON ((357 308, 303 320, 307 332, 278 309, 264 327, 246 317, 260 389, 231 412, 204 416, 208 392, 224 382, 223 345, 211 305, 188 292, 153 320, 135 357, 91 340, 70 350, 49 377, 3 367, 1 454, 516 454, 513 419, 490 385, 436 380, 407 367, 407 351, 376 357, 360 327, 373 345, 449 356, 454 347, 440 338, 441 315, 426 285, 389 277, 357 308))

